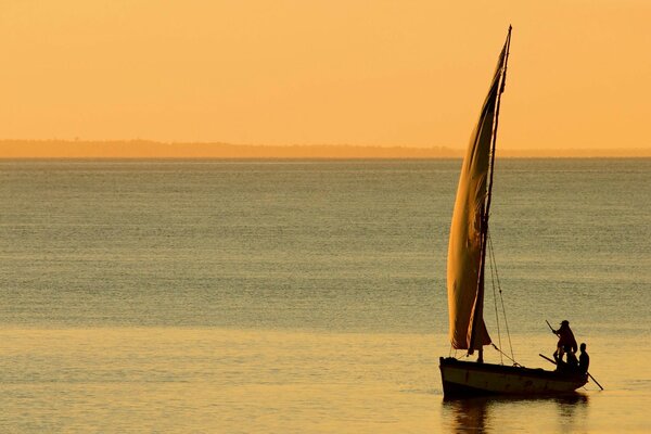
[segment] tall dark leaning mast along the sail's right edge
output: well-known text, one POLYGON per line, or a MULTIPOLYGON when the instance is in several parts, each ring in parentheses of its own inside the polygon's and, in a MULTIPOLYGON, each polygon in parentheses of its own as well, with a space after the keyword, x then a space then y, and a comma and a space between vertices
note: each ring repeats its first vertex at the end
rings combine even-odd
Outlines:
MULTIPOLYGON (((492 145, 490 145, 490 164, 488 167, 488 188, 487 188, 487 194, 486 194, 486 202, 485 205, 483 207, 483 209, 481 209, 481 256, 480 256, 480 278, 477 280, 477 295, 476 295, 476 301, 475 301, 475 305, 480 305, 483 306, 484 304, 484 276, 485 276, 485 265, 486 265, 486 246, 488 244, 488 217, 490 215, 490 199, 493 197, 493 174, 495 171, 495 149, 496 149, 496 144, 497 144, 497 127, 499 124, 499 107, 500 107, 500 103, 501 103, 501 94, 505 91, 505 86, 507 82, 507 64, 509 62, 509 50, 511 48, 511 29, 513 27, 511 25, 509 25, 509 33, 507 34, 507 40, 505 42, 505 59, 503 59, 503 66, 502 66, 502 73, 501 73, 501 78, 500 78, 500 85, 499 85, 499 91, 497 92, 497 102, 496 102, 496 108, 495 108, 495 120, 493 123, 493 133, 492 133, 492 145)), ((474 343, 475 343, 475 331, 476 331, 476 327, 477 323, 480 321, 483 321, 482 318, 478 318, 478 312, 480 309, 474 309, 474 316, 472 318, 471 324, 472 324, 472 330, 470 333, 470 344, 469 344, 469 349, 468 349, 468 354, 472 354, 473 353, 473 347, 474 347, 474 343)), ((482 359, 482 353, 480 350, 480 359, 482 359)))

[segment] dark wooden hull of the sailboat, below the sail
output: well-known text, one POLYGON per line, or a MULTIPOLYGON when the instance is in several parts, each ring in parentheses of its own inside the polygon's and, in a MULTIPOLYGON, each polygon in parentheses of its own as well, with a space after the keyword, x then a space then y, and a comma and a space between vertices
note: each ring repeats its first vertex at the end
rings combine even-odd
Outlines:
POLYGON ((587 374, 563 373, 503 365, 441 358, 446 398, 485 395, 544 396, 573 393, 588 382, 587 374))

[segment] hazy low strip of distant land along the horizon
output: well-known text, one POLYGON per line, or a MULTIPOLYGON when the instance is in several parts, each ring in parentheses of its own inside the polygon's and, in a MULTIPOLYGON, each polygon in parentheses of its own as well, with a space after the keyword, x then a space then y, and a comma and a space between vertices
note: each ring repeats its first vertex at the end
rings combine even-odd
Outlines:
MULTIPOLYGON (((0 140, 0 159, 434 159, 460 158, 446 146, 252 145, 144 140, 0 140)), ((502 158, 647 158, 651 149, 498 150, 502 158)))

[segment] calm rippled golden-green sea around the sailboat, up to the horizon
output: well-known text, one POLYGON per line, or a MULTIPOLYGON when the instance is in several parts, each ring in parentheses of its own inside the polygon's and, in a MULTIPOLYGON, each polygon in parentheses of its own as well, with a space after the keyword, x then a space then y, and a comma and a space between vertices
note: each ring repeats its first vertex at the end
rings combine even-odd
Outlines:
POLYGON ((0 432, 651 432, 651 159, 497 161, 485 356, 570 320, 556 399, 443 400, 460 166, 0 161, 0 432))

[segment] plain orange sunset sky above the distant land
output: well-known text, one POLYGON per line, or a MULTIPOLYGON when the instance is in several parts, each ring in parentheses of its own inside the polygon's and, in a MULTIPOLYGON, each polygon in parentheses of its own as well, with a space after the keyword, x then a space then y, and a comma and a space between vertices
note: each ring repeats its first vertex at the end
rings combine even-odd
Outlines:
POLYGON ((0 0, 0 139, 650 149, 651 1, 0 0), (457 4, 460 3, 460 4, 457 4))

